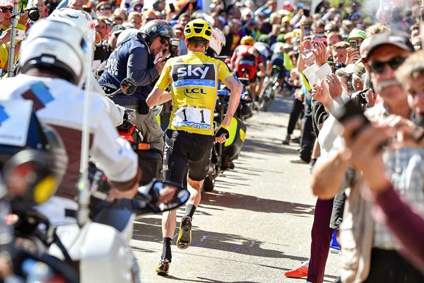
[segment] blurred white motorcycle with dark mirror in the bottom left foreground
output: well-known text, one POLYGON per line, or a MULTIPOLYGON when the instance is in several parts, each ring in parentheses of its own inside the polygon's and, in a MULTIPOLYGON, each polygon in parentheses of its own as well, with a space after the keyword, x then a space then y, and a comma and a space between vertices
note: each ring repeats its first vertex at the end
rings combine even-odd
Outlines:
POLYGON ((141 282, 129 246, 135 217, 175 209, 188 199, 189 192, 183 187, 152 180, 140 187, 132 200, 94 202, 93 221, 83 227, 70 224, 54 228, 35 210, 16 210, 12 206, 18 250, 16 275, 28 279, 28 264, 39 261, 45 262, 53 277, 63 279, 53 282, 141 282), (166 203, 160 201, 164 190, 174 191, 166 203))

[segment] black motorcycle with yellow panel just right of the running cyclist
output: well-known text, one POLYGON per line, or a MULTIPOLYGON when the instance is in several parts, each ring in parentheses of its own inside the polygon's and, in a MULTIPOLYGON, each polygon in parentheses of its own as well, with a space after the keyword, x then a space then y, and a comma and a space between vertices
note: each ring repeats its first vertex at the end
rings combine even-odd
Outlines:
MULTIPOLYGON (((219 125, 224 120, 229 97, 230 91, 228 91, 228 89, 221 89, 218 91, 218 99, 213 116, 213 125, 215 129, 218 129, 219 125)), ((218 175, 222 174, 227 169, 235 168, 232 161, 238 158, 245 142, 247 131, 245 123, 242 119, 240 119, 240 117, 243 117, 242 107, 243 104, 239 104, 239 109, 237 109, 238 114, 231 119, 229 129, 230 138, 227 139, 224 144, 215 143, 212 148, 211 164, 209 166, 208 176, 204 180, 204 185, 202 187, 202 190, 205 192, 211 192, 213 190, 215 180, 218 175)))

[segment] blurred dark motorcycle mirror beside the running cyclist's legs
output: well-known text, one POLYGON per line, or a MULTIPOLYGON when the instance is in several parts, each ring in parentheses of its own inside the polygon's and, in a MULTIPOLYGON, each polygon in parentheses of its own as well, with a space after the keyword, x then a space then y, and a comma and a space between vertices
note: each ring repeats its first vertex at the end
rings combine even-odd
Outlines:
POLYGON ((166 212, 175 209, 189 200, 189 191, 177 183, 153 179, 151 183, 139 187, 138 200, 148 203, 146 207, 152 212, 166 212))

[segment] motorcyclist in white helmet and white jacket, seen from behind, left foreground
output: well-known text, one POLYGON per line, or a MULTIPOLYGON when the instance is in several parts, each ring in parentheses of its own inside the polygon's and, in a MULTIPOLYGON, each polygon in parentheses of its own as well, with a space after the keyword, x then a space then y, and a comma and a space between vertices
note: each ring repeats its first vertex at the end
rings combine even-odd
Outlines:
MULTIPOLYGON (((66 173, 54 197, 38 207, 54 226, 76 222, 78 204, 74 199, 86 96, 78 84, 83 79, 87 46, 81 30, 69 21, 52 18, 37 22, 20 50, 22 74, 0 81, 0 99, 33 100, 39 120, 53 127, 64 142, 66 173)), ((89 95, 90 156, 110 180, 110 200, 134 197, 141 176, 137 155, 119 139, 102 97, 89 95)))

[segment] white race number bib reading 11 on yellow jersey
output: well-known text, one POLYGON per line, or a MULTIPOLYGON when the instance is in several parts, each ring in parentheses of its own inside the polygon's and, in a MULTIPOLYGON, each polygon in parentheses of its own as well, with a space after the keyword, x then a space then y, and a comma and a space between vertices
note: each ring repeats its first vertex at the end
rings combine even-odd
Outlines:
POLYGON ((206 108, 182 107, 178 108, 172 119, 172 126, 191 127, 193 129, 212 129, 211 110, 206 108))

